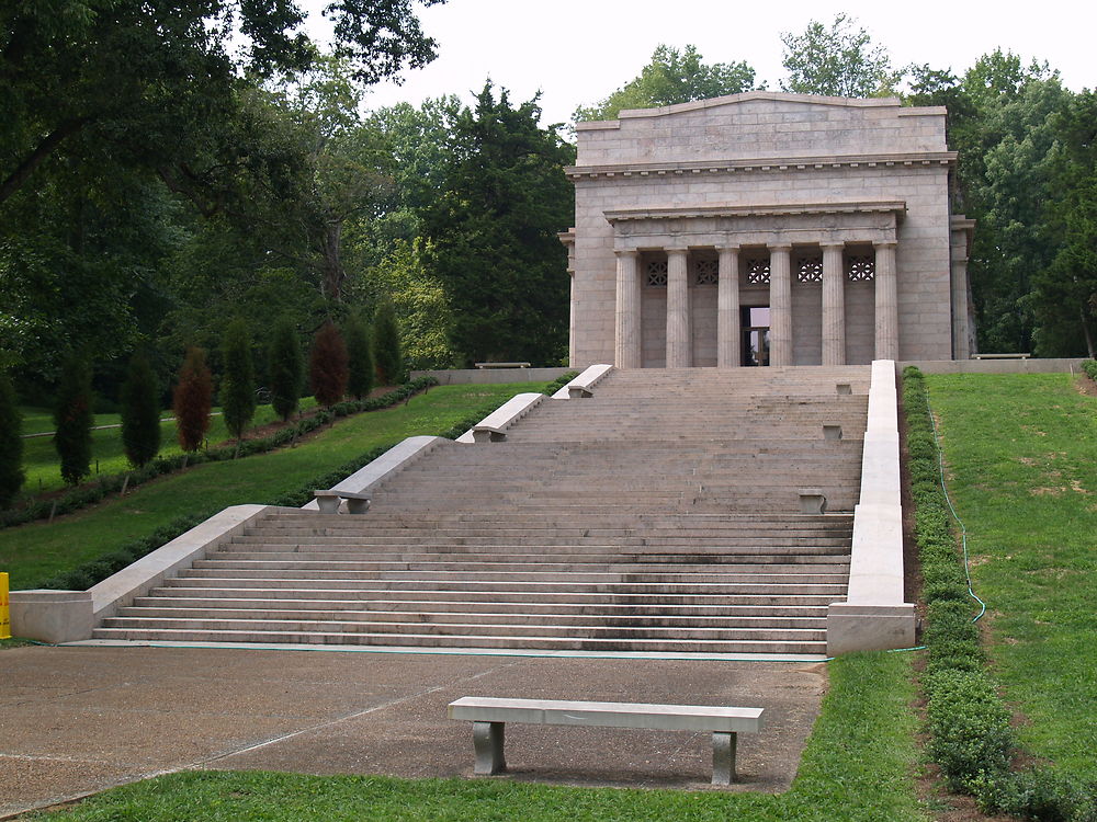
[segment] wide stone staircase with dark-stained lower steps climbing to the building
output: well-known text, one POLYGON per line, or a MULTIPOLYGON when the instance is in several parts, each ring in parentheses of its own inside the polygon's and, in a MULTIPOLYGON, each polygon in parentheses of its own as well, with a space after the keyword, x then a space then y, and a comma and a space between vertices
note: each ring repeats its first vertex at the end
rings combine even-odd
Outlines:
POLYGON ((821 654, 868 383, 852 366, 614 370, 505 442, 440 445, 365 515, 274 509, 94 636, 821 654), (804 488, 827 513, 801 513, 804 488))

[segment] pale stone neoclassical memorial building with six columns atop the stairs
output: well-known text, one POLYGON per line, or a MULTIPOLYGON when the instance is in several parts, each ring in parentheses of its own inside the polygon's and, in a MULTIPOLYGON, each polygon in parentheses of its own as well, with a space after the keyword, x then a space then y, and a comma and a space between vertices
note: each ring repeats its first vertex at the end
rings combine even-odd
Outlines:
POLYGON ((573 366, 968 358, 943 107, 755 91, 576 136, 573 366))

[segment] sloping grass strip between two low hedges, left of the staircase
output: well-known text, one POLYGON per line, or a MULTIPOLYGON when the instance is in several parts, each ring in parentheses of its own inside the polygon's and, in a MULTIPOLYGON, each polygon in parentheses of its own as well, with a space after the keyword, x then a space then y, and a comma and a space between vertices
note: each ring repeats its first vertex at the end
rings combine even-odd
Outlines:
POLYGON ((485 406, 523 390, 530 390, 530 385, 436 387, 412 397, 406 406, 340 420, 293 448, 206 463, 53 524, 4 528, 0 530, 0 570, 11 574, 12 590, 35 587, 179 516, 264 502, 378 445, 445 431, 485 406))

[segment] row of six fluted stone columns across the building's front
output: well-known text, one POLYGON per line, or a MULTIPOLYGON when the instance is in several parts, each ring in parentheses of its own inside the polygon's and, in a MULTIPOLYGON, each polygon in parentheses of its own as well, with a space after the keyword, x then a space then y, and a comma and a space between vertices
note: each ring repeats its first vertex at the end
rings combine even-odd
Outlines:
MULTIPOLYGON (((872 243, 875 250, 875 359, 898 358, 898 300, 895 283, 895 241, 872 243)), ((823 365, 846 364, 845 243, 821 243, 823 250, 823 365)), ((667 254, 667 367, 692 365, 688 253, 685 246, 663 249, 667 254)), ((769 345, 771 365, 792 365, 792 246, 774 243, 769 251, 769 345)), ((716 248, 716 366, 742 363, 739 328, 740 247, 716 248)), ((642 361, 640 252, 617 254, 615 363, 640 368, 642 361)))

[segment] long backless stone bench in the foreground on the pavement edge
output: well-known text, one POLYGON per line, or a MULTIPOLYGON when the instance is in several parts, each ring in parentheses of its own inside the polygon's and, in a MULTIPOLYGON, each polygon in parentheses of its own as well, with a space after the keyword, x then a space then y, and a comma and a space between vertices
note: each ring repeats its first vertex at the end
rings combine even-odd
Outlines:
POLYGON ((507 722, 527 724, 648 728, 659 731, 712 732, 712 784, 735 781, 736 733, 761 730, 764 708, 709 705, 644 705, 638 703, 576 703, 561 699, 500 699, 465 696, 450 703, 450 719, 473 723, 476 752, 474 774, 507 769, 504 729, 507 722))

